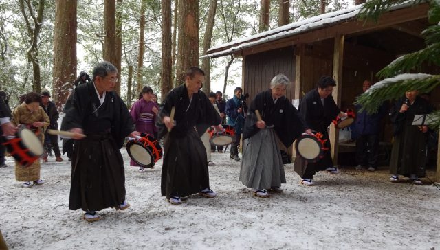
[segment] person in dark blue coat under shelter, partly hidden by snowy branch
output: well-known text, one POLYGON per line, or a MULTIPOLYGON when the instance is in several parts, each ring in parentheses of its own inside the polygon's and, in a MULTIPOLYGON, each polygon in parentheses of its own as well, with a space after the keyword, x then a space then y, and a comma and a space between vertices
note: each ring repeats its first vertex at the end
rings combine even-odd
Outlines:
MULTIPOLYGON (((372 85, 369 80, 364 80, 362 90, 367 91, 372 85)), ((377 155, 379 155, 380 122, 386 115, 386 105, 382 104, 376 113, 369 114, 356 105, 355 133, 356 138, 356 170, 367 168, 375 171, 377 168, 377 155)))

